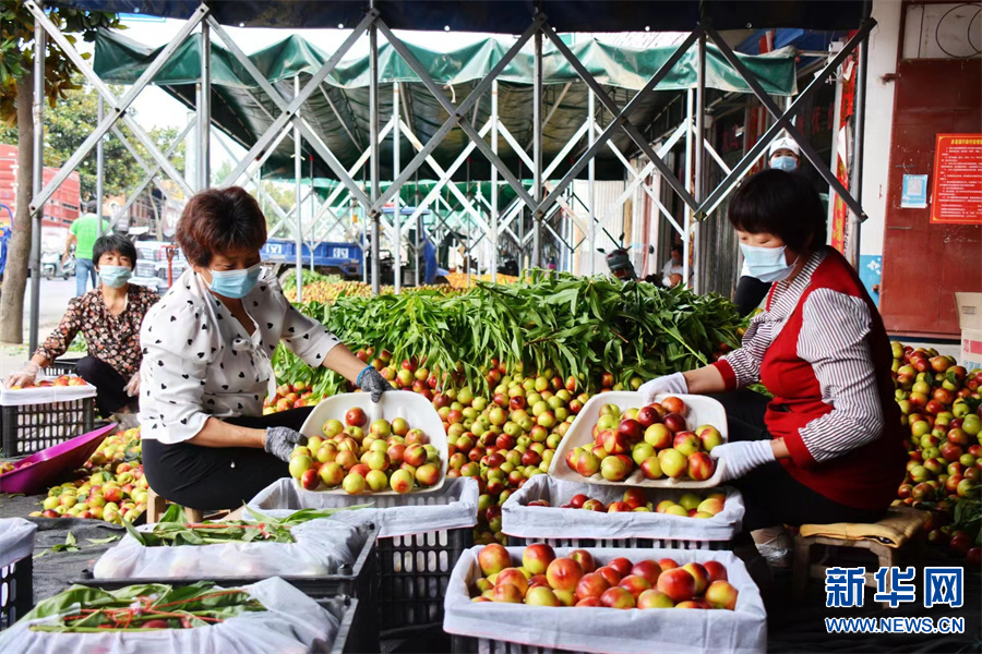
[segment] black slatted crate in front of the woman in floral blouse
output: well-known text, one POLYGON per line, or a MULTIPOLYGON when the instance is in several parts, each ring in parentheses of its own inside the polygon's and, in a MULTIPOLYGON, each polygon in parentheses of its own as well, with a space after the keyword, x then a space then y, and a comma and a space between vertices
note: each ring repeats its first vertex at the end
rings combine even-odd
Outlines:
POLYGON ((5 458, 39 452, 95 428, 95 398, 0 408, 5 458))

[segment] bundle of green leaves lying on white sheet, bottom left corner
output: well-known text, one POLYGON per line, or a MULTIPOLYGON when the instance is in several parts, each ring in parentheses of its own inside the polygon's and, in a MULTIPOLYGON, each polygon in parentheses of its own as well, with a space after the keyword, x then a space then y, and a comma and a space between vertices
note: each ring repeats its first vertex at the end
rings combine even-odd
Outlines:
POLYGON ((105 633, 142 629, 192 629, 266 608, 241 589, 212 582, 172 588, 133 585, 117 591, 72 586, 40 602, 25 619, 52 618, 32 631, 105 633))

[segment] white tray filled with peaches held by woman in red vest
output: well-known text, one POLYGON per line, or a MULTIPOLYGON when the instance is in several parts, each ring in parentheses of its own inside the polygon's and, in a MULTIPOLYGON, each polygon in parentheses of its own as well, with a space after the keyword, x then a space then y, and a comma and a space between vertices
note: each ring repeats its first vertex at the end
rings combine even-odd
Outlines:
POLYGON ((590 398, 556 448, 549 474, 615 486, 719 486, 722 463, 709 450, 727 443, 722 404, 706 396, 660 395, 644 408, 639 392, 590 398))

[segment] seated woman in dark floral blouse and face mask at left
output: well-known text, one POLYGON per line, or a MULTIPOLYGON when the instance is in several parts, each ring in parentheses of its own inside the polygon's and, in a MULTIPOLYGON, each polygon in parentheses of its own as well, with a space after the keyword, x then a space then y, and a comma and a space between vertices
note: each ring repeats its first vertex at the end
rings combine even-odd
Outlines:
POLYGON ((27 365, 8 379, 8 386, 34 384, 40 368, 68 350, 80 331, 88 356, 79 360, 75 372, 98 390, 96 407, 103 417, 112 413, 127 425, 134 423, 140 390, 140 326, 147 310, 159 300, 156 291, 130 284, 136 266, 136 247, 120 235, 101 237, 93 249, 93 261, 101 283, 69 301, 68 311, 48 340, 27 365), (130 415, 125 415, 130 414, 130 415))

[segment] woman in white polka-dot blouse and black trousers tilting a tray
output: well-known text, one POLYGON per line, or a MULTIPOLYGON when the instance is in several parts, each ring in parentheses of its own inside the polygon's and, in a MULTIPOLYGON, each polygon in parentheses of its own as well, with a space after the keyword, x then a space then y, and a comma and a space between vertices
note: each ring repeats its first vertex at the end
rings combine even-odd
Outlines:
POLYGON ((190 199, 177 242, 191 267, 147 314, 140 422, 151 487, 195 509, 235 508, 289 474, 290 451, 311 409, 263 415, 275 388, 270 358, 283 341, 379 401, 390 384, 294 308, 260 249, 266 219, 241 187, 190 199))

